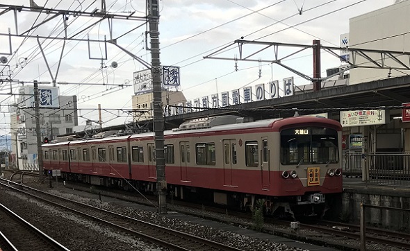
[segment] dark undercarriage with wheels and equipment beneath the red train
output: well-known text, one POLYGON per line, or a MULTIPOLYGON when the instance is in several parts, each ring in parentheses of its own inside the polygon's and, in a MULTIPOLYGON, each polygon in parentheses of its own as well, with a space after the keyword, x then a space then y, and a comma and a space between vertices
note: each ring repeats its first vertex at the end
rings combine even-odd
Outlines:
MULTIPOLYGON (((145 194, 156 194, 156 182, 138 180, 124 180, 102 176, 83 175, 77 173, 62 173, 64 180, 83 182, 102 187, 123 189, 126 191, 140 191, 145 194)), ((270 197, 230 191, 215 191, 198 187, 186 187, 174 184, 167 185, 167 199, 184 200, 206 206, 222 207, 239 211, 252 211, 258 200, 263 201, 265 215, 278 218, 297 218, 299 216, 315 216, 322 218, 332 209, 332 201, 337 195, 309 193, 304 196, 270 197)))

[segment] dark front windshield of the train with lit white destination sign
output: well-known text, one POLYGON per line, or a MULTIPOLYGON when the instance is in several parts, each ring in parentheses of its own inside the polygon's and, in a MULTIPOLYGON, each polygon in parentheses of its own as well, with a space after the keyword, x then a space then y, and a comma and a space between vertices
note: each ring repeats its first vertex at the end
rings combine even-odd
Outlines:
POLYGON ((338 133, 331 128, 303 127, 282 130, 281 164, 339 162, 338 133))

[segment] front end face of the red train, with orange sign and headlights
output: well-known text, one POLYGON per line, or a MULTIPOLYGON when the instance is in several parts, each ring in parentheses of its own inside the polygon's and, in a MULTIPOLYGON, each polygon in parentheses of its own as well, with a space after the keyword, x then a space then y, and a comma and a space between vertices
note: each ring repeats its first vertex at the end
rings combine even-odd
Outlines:
POLYGON ((279 202, 266 203, 268 211, 322 216, 343 190, 341 124, 298 116, 274 121, 272 130, 279 144, 279 156, 271 156, 272 191, 279 202))

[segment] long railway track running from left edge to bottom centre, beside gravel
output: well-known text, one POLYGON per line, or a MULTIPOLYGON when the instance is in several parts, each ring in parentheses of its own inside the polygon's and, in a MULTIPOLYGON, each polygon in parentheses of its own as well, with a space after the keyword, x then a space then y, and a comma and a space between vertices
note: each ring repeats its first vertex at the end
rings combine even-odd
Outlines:
POLYGON ((109 225, 121 232, 126 232, 131 236, 136 236, 145 241, 156 243, 162 247, 169 248, 170 250, 220 250, 220 251, 240 251, 238 248, 233 248, 229 245, 217 243, 202 239, 198 236, 186 234, 176 230, 171 230, 165 227, 147 223, 142 220, 137 220, 128 216, 123 216, 112 211, 99 209, 90 205, 85 205, 81 202, 74 200, 68 200, 67 198, 61 198, 58 196, 32 189, 15 182, 10 182, 13 187, 6 184, 9 189, 14 189, 19 193, 24 193, 27 196, 32 196, 43 202, 53 205, 54 207, 60 207, 75 214, 90 218, 100 225, 109 225), (19 188, 16 188, 19 187, 19 188), (22 191, 24 189, 24 191, 22 191))

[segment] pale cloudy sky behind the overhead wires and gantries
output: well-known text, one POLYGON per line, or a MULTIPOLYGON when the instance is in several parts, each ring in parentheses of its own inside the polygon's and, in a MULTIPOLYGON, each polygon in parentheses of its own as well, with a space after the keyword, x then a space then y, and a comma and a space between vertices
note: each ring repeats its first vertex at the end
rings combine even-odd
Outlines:
MULTIPOLYGON (((101 0, 34 1, 38 6, 56 10, 101 10, 101 0)), ((158 26, 161 64, 180 67, 179 90, 188 101, 230 92, 232 89, 254 87, 272 80, 280 82, 289 77, 294 77, 295 85, 306 85, 309 84, 307 80, 277 64, 213 60, 204 59, 204 56, 241 37, 251 41, 306 45, 311 45, 313 40, 320 40, 322 45, 340 46, 340 35, 349 32, 350 18, 393 3, 395 0, 162 0, 159 1, 161 16, 158 26)), ((28 7, 30 3, 29 0, 0 0, 0 5, 28 7)), ((145 1, 106 0, 108 12, 117 15, 133 13, 133 16, 144 17, 145 8, 145 1)), ((37 40, 36 36, 63 37, 62 18, 42 23, 52 15, 17 12, 16 16, 17 19, 13 12, 0 15, 0 53, 7 54, 9 46, 12 51, 11 55, 3 55, 8 58, 8 62, 0 63, 0 79, 4 80, 10 75, 11 79, 16 80, 12 84, 0 81, 0 128, 3 128, 0 135, 7 131, 10 117, 8 105, 15 102, 15 96, 9 95, 10 92, 17 93, 19 87, 31 85, 33 80, 38 80, 42 85, 51 83, 52 78, 39 49, 39 42, 54 78, 57 76, 60 95, 76 95, 78 98, 80 125, 84 125, 85 119, 98 120, 96 108, 99 104, 103 109, 103 126, 132 121, 121 109, 131 109, 133 72, 146 67, 113 44, 88 43, 87 38, 104 40, 106 37, 109 40, 111 30, 113 37, 120 37, 117 39, 118 45, 140 60, 151 63, 150 51, 146 48, 146 44, 149 47, 149 35, 146 37, 147 26, 144 21, 113 20, 110 29, 108 21, 90 26, 97 19, 67 15, 67 37, 72 37, 88 26, 90 28, 75 36, 83 41, 65 42, 58 69, 63 40, 37 40), (8 34, 9 29, 10 33, 15 34, 16 24, 19 34, 33 26, 37 28, 24 33, 31 35, 26 39, 12 37, 10 44, 9 37, 4 34, 8 34), (117 63, 116 68, 112 67, 113 62, 117 63)), ((244 47, 244 51, 250 49, 253 48, 244 47)), ((279 55, 295 52, 295 49, 286 47, 279 47, 279 50, 279 55)), ((230 47, 222 55, 238 57, 238 46, 230 47)), ((274 59, 272 51, 260 53, 257 57, 274 59)), ((322 76, 325 76, 326 69, 341 64, 337 58, 323 51, 321 59, 322 76)), ((288 66, 308 76, 312 76, 312 62, 311 51, 302 51, 284 60, 288 66)))

